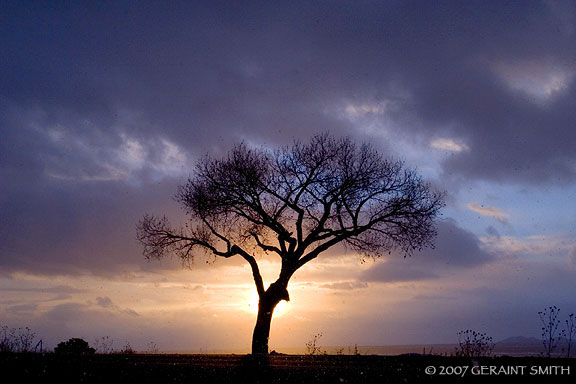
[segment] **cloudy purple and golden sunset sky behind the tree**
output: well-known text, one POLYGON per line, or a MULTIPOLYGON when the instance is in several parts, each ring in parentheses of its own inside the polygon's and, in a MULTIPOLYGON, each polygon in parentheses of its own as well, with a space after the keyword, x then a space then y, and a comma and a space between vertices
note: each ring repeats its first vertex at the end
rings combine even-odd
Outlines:
POLYGON ((571 1, 3 1, 0 325, 249 351, 249 266, 147 261, 136 224, 184 223, 207 154, 329 132, 446 192, 436 247, 317 258, 271 349, 539 337, 576 312, 575 40, 571 1))

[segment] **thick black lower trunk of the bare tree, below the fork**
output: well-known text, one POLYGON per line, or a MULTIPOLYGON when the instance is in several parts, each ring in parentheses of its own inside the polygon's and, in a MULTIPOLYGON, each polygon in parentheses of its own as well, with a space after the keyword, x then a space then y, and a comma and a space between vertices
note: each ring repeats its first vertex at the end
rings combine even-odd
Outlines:
POLYGON ((290 301, 288 291, 285 286, 272 284, 260 297, 258 302, 258 317, 254 334, 252 335, 252 354, 268 354, 268 339, 270 337, 270 324, 274 308, 281 300, 290 301))

